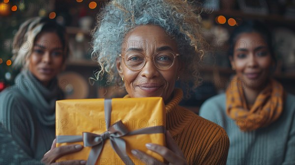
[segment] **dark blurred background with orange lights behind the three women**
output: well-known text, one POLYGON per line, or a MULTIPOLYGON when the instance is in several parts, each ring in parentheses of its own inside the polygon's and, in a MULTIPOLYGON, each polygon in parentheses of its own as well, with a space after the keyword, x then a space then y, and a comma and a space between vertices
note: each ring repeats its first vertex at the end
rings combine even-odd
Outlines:
MULTIPOLYGON (((30 17, 44 16, 66 26, 69 35, 71 54, 65 71, 59 75, 60 86, 67 98, 123 96, 124 89, 115 84, 89 82, 99 69, 90 56, 90 31, 97 13, 107 2, 0 0, 0 91, 12 85, 19 72, 11 67, 12 38, 17 29, 30 17)), ((278 59, 274 77, 288 92, 295 94, 295 0, 194 0, 192 3, 199 7, 207 44, 204 66, 200 70, 203 83, 182 105, 197 112, 208 97, 224 92, 234 74, 228 60, 227 40, 236 26, 253 19, 264 22, 271 30, 278 59)))

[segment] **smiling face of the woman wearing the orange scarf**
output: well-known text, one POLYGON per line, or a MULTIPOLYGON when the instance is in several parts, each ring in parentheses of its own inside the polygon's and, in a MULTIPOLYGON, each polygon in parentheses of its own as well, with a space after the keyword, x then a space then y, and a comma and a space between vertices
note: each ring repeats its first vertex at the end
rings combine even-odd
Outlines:
POLYGON ((238 36, 234 56, 230 60, 238 78, 252 89, 263 88, 274 63, 265 40, 257 32, 245 32, 238 36))

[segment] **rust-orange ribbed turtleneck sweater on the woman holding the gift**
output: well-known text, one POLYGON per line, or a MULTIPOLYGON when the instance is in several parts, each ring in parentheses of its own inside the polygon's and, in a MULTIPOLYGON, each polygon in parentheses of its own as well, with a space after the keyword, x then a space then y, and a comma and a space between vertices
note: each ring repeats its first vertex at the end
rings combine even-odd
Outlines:
POLYGON ((181 89, 175 89, 173 99, 166 104, 166 127, 188 165, 225 165, 230 145, 226 132, 217 124, 178 106, 182 95, 181 89))

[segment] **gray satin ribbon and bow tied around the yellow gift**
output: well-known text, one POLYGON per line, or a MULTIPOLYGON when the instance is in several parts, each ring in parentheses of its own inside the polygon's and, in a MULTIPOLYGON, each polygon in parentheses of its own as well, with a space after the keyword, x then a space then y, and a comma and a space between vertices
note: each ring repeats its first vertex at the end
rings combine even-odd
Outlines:
POLYGON ((148 127, 148 128, 143 128, 143 129, 129 132, 128 129, 124 127, 124 124, 122 123, 121 120, 119 120, 112 126, 109 126, 111 122, 111 113, 112 113, 112 100, 110 99, 105 99, 104 111, 105 111, 105 119, 109 121, 106 125, 107 127, 106 132, 100 135, 89 133, 89 132, 83 132, 83 136, 63 136, 63 135, 57 136, 58 143, 83 141, 85 147, 92 147, 88 156, 87 165, 95 164, 96 160, 98 159, 103 149, 104 141, 106 139, 110 139, 113 149, 126 165, 134 165, 132 160, 127 155, 126 142, 120 137, 129 136, 129 135, 139 135, 139 134, 165 133, 164 126, 148 127))

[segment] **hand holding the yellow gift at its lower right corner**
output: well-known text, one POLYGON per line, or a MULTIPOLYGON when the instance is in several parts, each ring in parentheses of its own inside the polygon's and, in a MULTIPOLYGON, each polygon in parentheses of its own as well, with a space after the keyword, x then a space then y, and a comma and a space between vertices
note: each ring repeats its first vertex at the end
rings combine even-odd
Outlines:
MULTIPOLYGON (((167 147, 153 143, 147 143, 146 147, 149 150, 160 154, 166 161, 169 162, 169 165, 186 165, 182 151, 177 146, 176 142, 168 131, 166 132, 166 143, 167 147)), ((138 159, 147 161, 147 165, 164 165, 164 163, 140 150, 131 150, 131 152, 138 159)))

